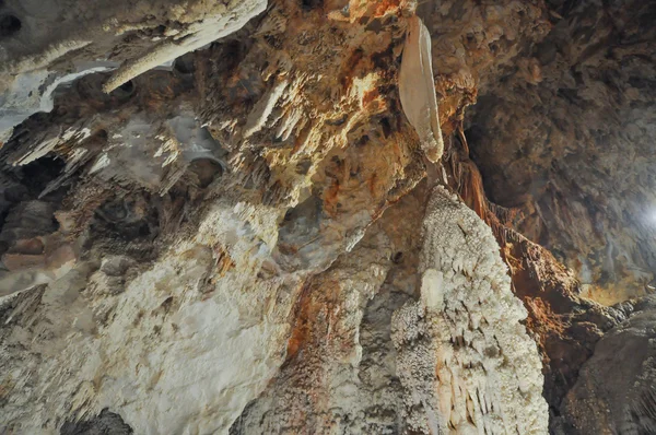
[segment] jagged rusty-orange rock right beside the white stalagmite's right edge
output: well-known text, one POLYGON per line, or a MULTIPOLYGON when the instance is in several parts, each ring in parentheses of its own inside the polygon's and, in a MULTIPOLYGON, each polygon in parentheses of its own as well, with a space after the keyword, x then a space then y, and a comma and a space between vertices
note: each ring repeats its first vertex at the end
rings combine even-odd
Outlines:
POLYGON ((574 273, 549 251, 517 234, 508 238, 503 256, 515 294, 528 310, 526 326, 542 354, 543 395, 551 415, 557 416, 597 341, 626 316, 621 309, 581 297, 574 273))

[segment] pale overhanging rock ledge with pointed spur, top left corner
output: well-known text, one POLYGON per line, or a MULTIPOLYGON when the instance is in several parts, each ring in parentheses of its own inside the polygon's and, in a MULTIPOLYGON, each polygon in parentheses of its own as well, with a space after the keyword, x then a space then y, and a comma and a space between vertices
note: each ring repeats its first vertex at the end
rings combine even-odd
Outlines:
POLYGON ((0 5, 0 141, 36 111, 52 109, 55 90, 85 74, 115 70, 114 91, 155 67, 226 36, 262 12, 266 0, 208 2, 7 0, 0 5))

